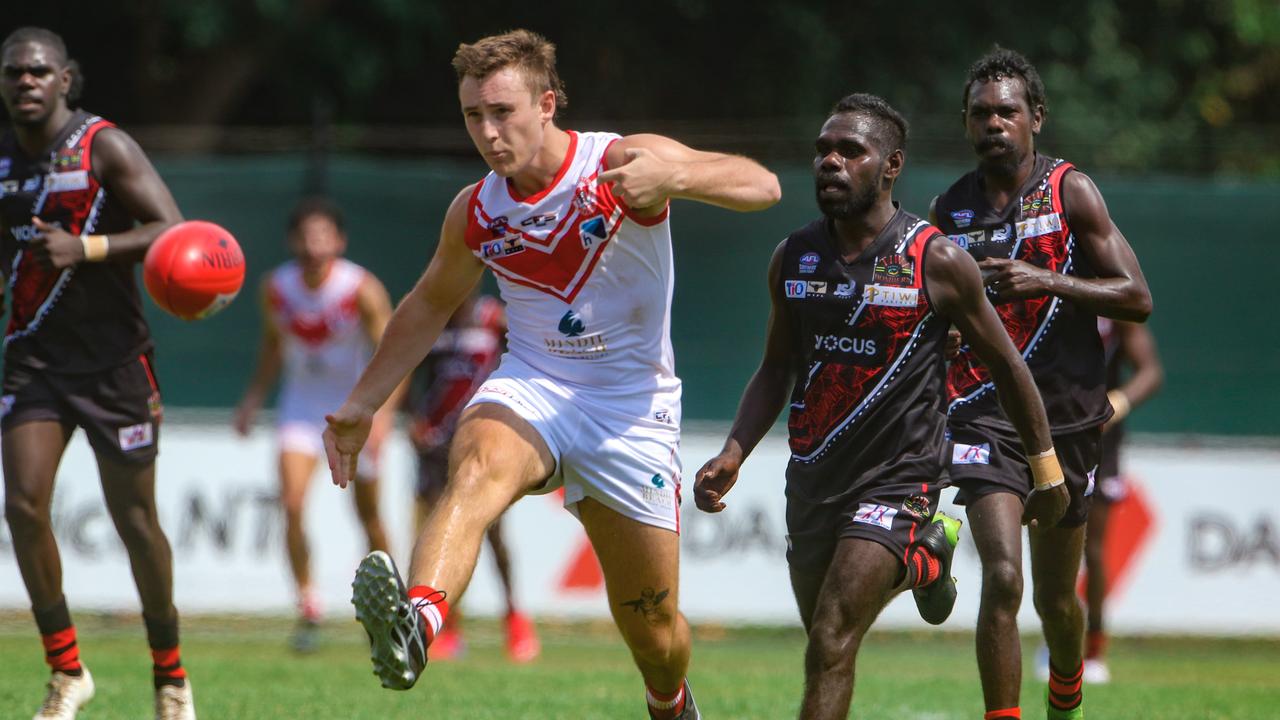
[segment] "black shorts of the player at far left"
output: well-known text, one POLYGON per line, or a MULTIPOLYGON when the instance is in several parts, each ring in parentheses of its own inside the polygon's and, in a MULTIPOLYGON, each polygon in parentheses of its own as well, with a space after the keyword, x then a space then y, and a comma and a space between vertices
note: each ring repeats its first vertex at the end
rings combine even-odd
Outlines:
POLYGON ((93 454, 116 462, 154 462, 164 406, 151 354, 100 373, 61 374, 6 366, 0 432, 52 420, 84 429, 93 454))

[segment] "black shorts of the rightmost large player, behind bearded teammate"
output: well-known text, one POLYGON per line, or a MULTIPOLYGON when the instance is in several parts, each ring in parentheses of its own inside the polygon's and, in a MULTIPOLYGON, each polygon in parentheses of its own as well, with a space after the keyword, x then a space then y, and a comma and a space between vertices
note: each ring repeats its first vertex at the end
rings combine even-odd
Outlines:
MULTIPOLYGON (((997 492, 1010 492, 1027 500, 1034 480, 1018 433, 959 423, 948 424, 947 433, 952 443, 951 484, 959 488, 956 505, 968 505, 997 492)), ((1071 505, 1059 528, 1079 528, 1089 518, 1101 436, 1101 425, 1053 436, 1053 450, 1071 493, 1071 505)))

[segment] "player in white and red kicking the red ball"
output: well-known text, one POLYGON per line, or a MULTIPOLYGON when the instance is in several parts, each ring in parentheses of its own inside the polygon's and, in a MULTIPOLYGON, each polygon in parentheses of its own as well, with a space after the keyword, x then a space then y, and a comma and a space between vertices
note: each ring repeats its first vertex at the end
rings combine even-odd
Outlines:
POLYGON ((410 587, 389 557, 370 555, 356 575, 356 616, 383 684, 411 687, 447 598, 466 589, 485 528, 521 496, 563 486, 600 559, 650 716, 698 717, 685 680, 689 624, 678 611, 668 201, 745 211, 774 204, 781 191, 745 158, 654 135, 561 129, 554 51, 515 31, 454 55, 462 117, 492 172, 453 200, 426 273, 329 418, 334 482, 347 484, 372 413, 485 266, 507 302, 508 352, 458 423, 449 482, 419 537, 410 587))

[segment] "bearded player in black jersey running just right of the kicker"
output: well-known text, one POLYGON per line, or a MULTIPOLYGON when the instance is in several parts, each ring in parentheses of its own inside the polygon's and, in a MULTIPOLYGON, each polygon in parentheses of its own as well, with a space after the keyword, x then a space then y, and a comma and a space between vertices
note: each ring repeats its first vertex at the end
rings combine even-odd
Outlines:
MULTIPOLYGON (((773 254, 768 275, 773 306, 764 357, 746 386, 723 450, 698 471, 694 488, 699 509, 723 510, 722 500, 733 487, 742 461, 792 396, 792 460, 787 469, 791 548, 787 555, 796 603, 809 632, 805 697, 800 710, 805 719, 847 716, 858 647, 896 592, 924 583, 931 583, 929 587, 950 583, 955 528, 952 525, 952 532, 947 533, 950 538, 940 537, 945 524, 928 520, 933 514, 931 506, 936 507, 937 502, 937 489, 931 486, 936 486, 941 471, 946 421, 943 318, 973 338, 1004 391, 1001 397, 1030 452, 1051 450, 1048 420, 1039 395, 995 310, 983 299, 977 264, 934 228, 897 209, 892 200, 893 182, 905 160, 905 140, 906 123, 901 115, 870 95, 846 97, 823 124, 817 141, 814 179, 824 219, 792 233, 773 254), (892 255, 884 250, 892 250, 899 241, 902 251, 893 255, 900 261, 892 263, 896 268, 888 268, 891 263, 882 260, 892 255), (795 251, 796 245, 803 245, 803 255, 795 251), (910 260, 913 254, 918 261, 910 260), (801 265, 799 270, 796 258, 801 265), (828 278, 823 270, 844 273, 845 282, 832 282, 840 278, 835 274, 828 278), (783 279, 797 272, 815 279, 812 283, 783 279), (911 279, 891 279, 904 275, 911 279), (806 287, 801 291, 795 283, 806 287), (895 292, 895 288, 905 291, 900 297, 914 300, 884 302, 886 296, 881 293, 895 292), (809 296, 810 291, 815 295, 809 296), (854 311, 854 318, 869 314, 883 323, 850 327, 847 310, 854 311), (893 319, 902 315, 910 316, 914 329, 895 332, 893 319), (823 320, 827 320, 824 331, 861 332, 892 350, 870 351, 865 354, 868 357, 860 359, 845 355, 846 366, 872 369, 877 378, 883 378, 883 384, 876 391, 855 388, 861 396, 854 402, 863 415, 856 415, 855 410, 850 429, 829 441, 841 447, 828 452, 827 462, 800 473, 795 401, 822 401, 823 397, 806 392, 818 374, 815 368, 840 364, 842 359, 837 354, 824 355, 822 343, 815 347, 814 337, 805 332, 818 329, 823 320), (905 334, 910 334, 910 340, 905 334), (900 337, 901 343, 896 342, 900 337), (922 443, 933 446, 924 448, 924 457, 932 457, 932 462, 916 460, 922 443), (904 466, 910 468, 905 474, 904 466), (837 507, 826 520, 824 537, 813 538, 810 543, 827 544, 826 552, 800 546, 801 536, 812 537, 806 533, 812 528, 806 525, 812 525, 817 514, 808 514, 803 524, 792 523, 796 506, 809 510, 822 505, 799 497, 813 493, 813 488, 797 487, 801 483, 820 483, 832 496, 826 505, 837 507), (916 529, 925 527, 916 538, 916 529), (928 544, 920 557, 920 542, 931 534, 938 542, 928 544), (812 550, 823 559, 820 562, 804 560, 812 550), (916 559, 923 562, 916 565, 913 562, 916 559)), ((837 351, 854 348, 854 340, 841 336, 831 345, 837 351)), ((865 342, 859 347, 870 348, 865 342)), ((856 350, 850 352, 858 354, 856 350)), ((1061 483, 1061 471, 1052 455, 1047 456, 1042 471, 1046 486, 1061 483)), ((1028 505, 1028 518, 1056 521, 1065 507, 1064 501, 1060 493, 1041 493, 1028 505)), ((950 600, 955 600, 954 585, 950 600)), ((922 605, 922 614, 924 610, 922 605)))

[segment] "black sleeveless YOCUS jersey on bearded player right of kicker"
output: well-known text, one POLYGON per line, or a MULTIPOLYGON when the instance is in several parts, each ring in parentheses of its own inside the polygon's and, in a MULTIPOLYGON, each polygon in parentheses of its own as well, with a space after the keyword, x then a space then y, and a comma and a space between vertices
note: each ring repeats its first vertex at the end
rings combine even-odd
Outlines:
POLYGON ((924 254, 941 233, 899 210, 852 263, 829 220, 786 240, 783 300, 797 368, 787 493, 837 501, 869 484, 933 482, 946 429, 943 348, 924 254))

